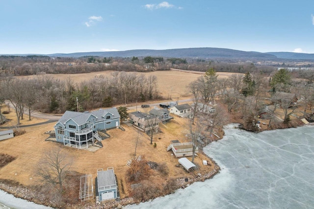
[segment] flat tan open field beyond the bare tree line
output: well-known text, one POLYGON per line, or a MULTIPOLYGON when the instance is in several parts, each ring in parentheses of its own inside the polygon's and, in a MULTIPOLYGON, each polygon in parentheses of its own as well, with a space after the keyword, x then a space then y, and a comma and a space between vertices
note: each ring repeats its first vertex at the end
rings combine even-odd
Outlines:
MULTIPOLYGON (((102 71, 102 72, 90 72, 90 73, 78 73, 78 74, 47 74, 47 76, 65 80, 67 77, 71 77, 76 83, 80 83, 84 80, 90 80, 97 75, 111 76, 113 71, 102 71)), ((154 72, 127 72, 127 73, 143 73, 146 76, 155 75, 158 81, 158 91, 160 95, 165 99, 174 98, 177 99, 179 97, 187 97, 188 94, 186 92, 186 85, 190 82, 196 80, 198 77, 205 74, 205 72, 190 72, 188 70, 185 71, 177 71, 177 70, 165 70, 165 71, 154 71, 154 72)), ((219 78, 225 78, 232 74, 242 74, 242 73, 233 73, 233 72, 217 72, 219 78)), ((27 77, 34 77, 36 75, 29 75, 27 77)), ((25 76, 19 76, 25 77, 25 76)))

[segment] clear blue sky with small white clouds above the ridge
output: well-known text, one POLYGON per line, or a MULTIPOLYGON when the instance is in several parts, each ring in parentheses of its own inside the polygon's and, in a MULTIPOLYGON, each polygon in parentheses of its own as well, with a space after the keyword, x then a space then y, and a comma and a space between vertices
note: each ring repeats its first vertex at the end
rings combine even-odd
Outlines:
POLYGON ((188 47, 314 53, 314 0, 0 0, 0 54, 188 47))

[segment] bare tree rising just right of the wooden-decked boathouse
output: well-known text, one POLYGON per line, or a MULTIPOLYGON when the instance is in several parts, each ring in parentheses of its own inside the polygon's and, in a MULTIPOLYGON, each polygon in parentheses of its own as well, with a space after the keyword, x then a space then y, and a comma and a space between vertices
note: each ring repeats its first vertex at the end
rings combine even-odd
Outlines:
POLYGON ((186 119, 186 128, 190 133, 190 139, 192 141, 192 163, 194 162, 196 148, 200 145, 200 138, 204 131, 204 124, 200 120, 196 120, 193 124, 191 119, 186 119))

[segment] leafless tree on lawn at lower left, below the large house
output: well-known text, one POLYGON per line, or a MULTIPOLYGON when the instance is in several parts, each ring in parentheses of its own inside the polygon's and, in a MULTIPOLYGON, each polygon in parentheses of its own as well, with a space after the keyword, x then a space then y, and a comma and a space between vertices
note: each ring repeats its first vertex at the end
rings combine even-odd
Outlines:
POLYGON ((65 173, 69 171, 71 165, 72 159, 61 148, 52 149, 45 152, 37 165, 36 173, 45 182, 58 186, 62 192, 65 173))

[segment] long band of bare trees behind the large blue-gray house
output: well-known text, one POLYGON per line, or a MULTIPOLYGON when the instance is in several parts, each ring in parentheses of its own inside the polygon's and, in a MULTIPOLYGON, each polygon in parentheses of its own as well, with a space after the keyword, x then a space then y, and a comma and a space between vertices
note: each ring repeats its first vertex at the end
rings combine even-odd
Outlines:
POLYGON ((115 71, 110 76, 95 76, 78 84, 70 76, 60 80, 45 73, 33 78, 0 77, 0 104, 10 101, 18 123, 24 119, 25 109, 29 113, 33 110, 63 113, 78 111, 77 101, 79 111, 84 111, 157 98, 157 77, 154 75, 115 71))

